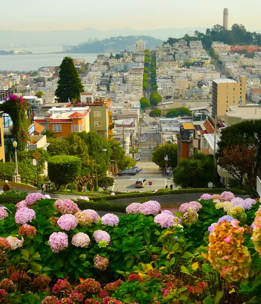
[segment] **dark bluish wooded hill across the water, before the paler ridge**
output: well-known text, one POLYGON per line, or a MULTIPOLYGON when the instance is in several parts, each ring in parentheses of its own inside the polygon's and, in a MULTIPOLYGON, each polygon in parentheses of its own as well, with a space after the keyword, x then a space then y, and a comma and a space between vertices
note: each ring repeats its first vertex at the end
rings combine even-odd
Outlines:
POLYGON ((162 45, 163 41, 151 36, 118 36, 95 41, 93 43, 80 44, 74 47, 72 53, 117 53, 121 50, 135 50, 137 40, 144 40, 147 49, 154 49, 162 45))

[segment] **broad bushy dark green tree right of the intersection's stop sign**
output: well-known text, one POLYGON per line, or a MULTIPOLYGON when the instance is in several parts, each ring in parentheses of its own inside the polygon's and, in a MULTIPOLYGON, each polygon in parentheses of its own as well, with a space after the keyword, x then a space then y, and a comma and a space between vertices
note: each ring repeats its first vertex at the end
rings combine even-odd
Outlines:
POLYGON ((191 159, 180 159, 177 168, 173 170, 173 181, 182 188, 206 188, 208 182, 215 181, 213 157, 198 153, 191 159))

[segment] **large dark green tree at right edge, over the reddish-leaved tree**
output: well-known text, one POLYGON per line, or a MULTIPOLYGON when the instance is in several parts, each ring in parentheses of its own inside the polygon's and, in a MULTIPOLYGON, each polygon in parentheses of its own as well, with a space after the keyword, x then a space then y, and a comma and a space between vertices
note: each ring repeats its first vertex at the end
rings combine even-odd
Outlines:
POLYGON ((256 151, 253 166, 247 172, 248 186, 256 187, 256 176, 261 172, 261 121, 245 121, 222 130, 220 141, 217 143, 217 160, 225 157, 226 151, 232 146, 245 146, 256 151))

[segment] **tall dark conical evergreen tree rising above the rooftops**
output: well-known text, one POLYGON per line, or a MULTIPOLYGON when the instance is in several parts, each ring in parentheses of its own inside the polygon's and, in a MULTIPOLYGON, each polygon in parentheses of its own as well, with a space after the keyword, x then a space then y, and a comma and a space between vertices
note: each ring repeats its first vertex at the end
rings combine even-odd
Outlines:
POLYGON ((84 92, 84 87, 72 58, 64 57, 59 68, 58 87, 55 91, 58 102, 67 102, 68 98, 70 100, 80 98, 80 93, 84 92))

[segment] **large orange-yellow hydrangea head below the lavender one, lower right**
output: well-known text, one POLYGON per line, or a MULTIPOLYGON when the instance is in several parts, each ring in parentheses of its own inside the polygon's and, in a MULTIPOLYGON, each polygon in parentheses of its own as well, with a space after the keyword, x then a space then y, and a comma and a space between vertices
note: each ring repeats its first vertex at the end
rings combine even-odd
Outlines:
POLYGON ((251 256, 243 246, 244 228, 238 220, 220 222, 209 235, 208 259, 214 269, 229 281, 237 282, 248 278, 251 267, 251 256))

